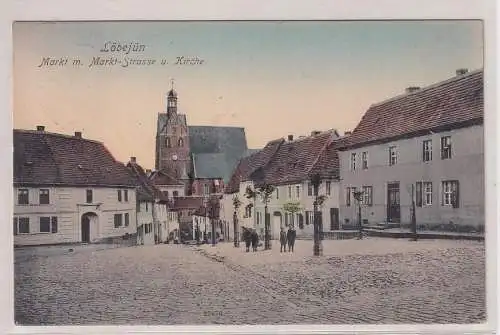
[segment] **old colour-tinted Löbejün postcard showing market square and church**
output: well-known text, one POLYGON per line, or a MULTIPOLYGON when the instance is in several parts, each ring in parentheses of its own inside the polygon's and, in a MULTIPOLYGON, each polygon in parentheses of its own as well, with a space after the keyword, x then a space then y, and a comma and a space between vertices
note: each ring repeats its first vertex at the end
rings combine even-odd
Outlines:
POLYGON ((490 318, 483 21, 12 34, 17 326, 490 318))

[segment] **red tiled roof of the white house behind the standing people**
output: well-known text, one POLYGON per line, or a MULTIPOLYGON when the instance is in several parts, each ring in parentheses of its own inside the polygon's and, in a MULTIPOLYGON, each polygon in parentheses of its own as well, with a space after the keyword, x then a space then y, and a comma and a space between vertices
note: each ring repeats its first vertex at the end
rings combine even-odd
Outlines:
POLYGON ((329 148, 336 137, 335 130, 330 130, 283 143, 273 159, 260 172, 262 177, 259 178, 259 183, 283 185, 301 182, 310 178, 313 168, 325 176, 338 173, 336 147, 329 148))

